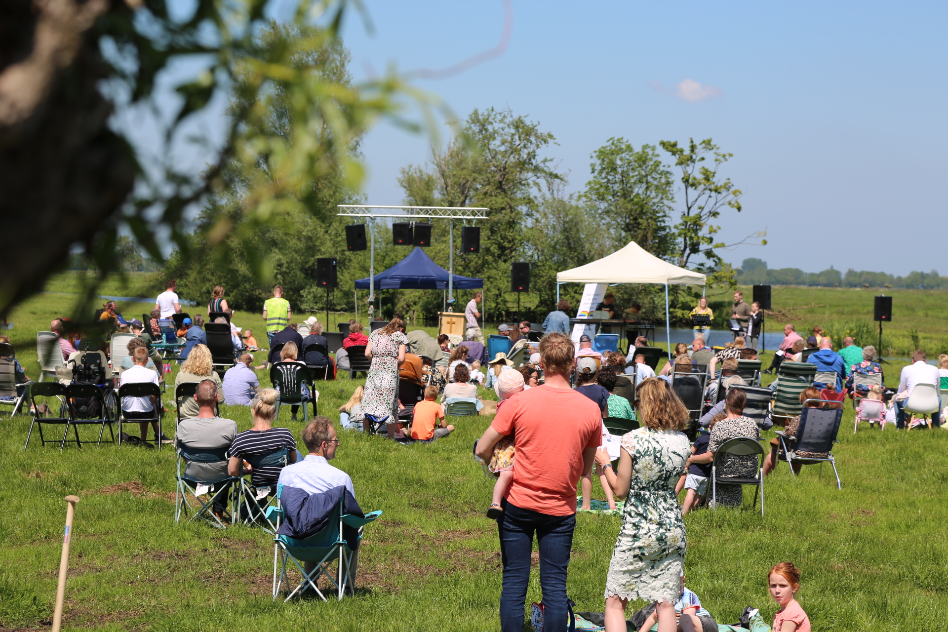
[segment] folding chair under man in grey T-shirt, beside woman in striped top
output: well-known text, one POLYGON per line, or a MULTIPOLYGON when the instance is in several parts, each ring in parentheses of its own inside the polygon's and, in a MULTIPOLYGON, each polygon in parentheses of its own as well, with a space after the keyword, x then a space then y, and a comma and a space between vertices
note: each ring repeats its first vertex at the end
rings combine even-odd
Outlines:
POLYGON ((214 515, 214 500, 218 497, 230 496, 231 506, 237 507, 238 500, 234 497, 234 490, 240 489, 240 479, 237 477, 223 476, 217 480, 193 480, 185 476, 187 467, 182 468, 182 464, 188 462, 194 463, 220 463, 227 462, 225 453, 226 447, 222 448, 192 448, 186 445, 178 444, 177 448, 177 475, 174 477, 176 485, 174 488, 174 522, 181 522, 185 518, 186 522, 195 520, 204 520, 212 527, 217 529, 226 529, 227 525, 214 515), (199 489, 207 486, 207 490, 199 489), (200 492, 200 494, 198 494, 200 492), (189 499, 188 495, 191 495, 189 499), (202 496, 210 494, 208 500, 202 500, 202 496), (190 514, 190 516, 189 516, 190 514))

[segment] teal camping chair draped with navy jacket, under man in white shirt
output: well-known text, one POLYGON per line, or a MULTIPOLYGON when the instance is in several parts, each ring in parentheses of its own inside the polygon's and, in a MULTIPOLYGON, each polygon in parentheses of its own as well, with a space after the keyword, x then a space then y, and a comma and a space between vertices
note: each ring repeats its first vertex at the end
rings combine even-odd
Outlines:
MULTIPOLYGON (((280 495, 283 492, 283 485, 277 486, 277 506, 267 509, 267 519, 275 522, 283 518, 283 507, 280 504, 280 495)), ((343 535, 343 526, 348 526, 356 530, 356 543, 362 539, 362 529, 365 525, 374 521, 382 512, 372 512, 365 517, 343 514, 342 499, 339 499, 336 508, 329 517, 326 528, 321 532, 311 535, 301 540, 288 535, 277 535, 273 538, 273 599, 283 587, 283 581, 287 582, 289 587, 289 577, 286 574, 286 566, 290 560, 297 569, 300 570, 302 579, 298 587, 293 588, 287 595, 283 603, 288 602, 297 596, 302 590, 312 588, 319 595, 322 601, 329 601, 317 587, 319 575, 325 575, 329 583, 336 588, 337 599, 342 600, 342 595, 348 587, 350 590, 355 588, 355 577, 352 575, 353 556, 355 551, 350 548, 350 543, 343 535), (338 559, 336 579, 329 573, 329 565, 338 559), (303 563, 314 564, 314 568, 309 572, 303 568, 303 563), (279 575, 277 570, 280 570, 279 575)), ((356 551, 358 547, 356 545, 356 551)))

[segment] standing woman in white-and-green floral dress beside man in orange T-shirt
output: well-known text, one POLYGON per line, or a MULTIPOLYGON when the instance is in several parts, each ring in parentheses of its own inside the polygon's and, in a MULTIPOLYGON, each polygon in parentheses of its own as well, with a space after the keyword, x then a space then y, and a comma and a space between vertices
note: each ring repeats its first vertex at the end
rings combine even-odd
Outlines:
POLYGON ((643 380, 635 395, 643 427, 622 437, 618 471, 605 450, 595 458, 615 497, 628 497, 606 579, 606 632, 626 629, 630 599, 656 602, 659 632, 674 632, 686 548, 675 483, 691 456, 682 432, 688 410, 656 377, 643 380))

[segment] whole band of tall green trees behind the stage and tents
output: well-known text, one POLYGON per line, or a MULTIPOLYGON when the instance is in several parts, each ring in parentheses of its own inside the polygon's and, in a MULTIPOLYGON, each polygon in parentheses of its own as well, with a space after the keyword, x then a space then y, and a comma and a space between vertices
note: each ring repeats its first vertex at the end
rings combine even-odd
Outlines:
MULTIPOLYGON (((274 26, 261 45, 281 42, 293 33, 274 26)), ((348 83, 348 51, 338 43, 313 51, 301 63, 313 64, 332 81, 348 83)), ((241 94, 240 86, 235 91, 241 94)), ((259 117, 256 136, 274 135, 292 142, 293 120, 282 116, 279 91, 269 102, 273 116, 259 117)), ((246 108, 235 100, 232 107, 246 108)), ((566 194, 567 173, 556 159, 556 137, 537 121, 509 110, 472 111, 463 122, 465 135, 435 150, 425 165, 407 165, 400 173, 404 199, 361 198, 339 172, 316 172, 296 199, 250 214, 258 199, 254 188, 273 177, 264 159, 236 153, 220 175, 221 187, 197 218, 197 230, 179 241, 179 250, 162 271, 178 281, 179 294, 203 304, 214 285, 222 284, 228 302, 237 309, 259 310, 270 287, 280 283, 298 310, 324 310, 327 296, 316 287, 316 260, 337 257, 339 287, 328 297, 331 310, 359 312, 367 307, 368 292, 354 290, 356 279, 369 276, 369 253, 348 252, 344 226, 364 219, 337 216, 338 204, 373 202, 386 205, 489 208, 481 226, 481 251, 462 255, 461 221, 455 222, 454 271, 484 280, 484 311, 489 319, 516 316, 517 295, 510 290, 512 262, 530 262, 530 293, 520 297, 521 315, 540 320, 556 304, 556 273, 604 257, 635 241, 647 251, 690 269, 706 273, 712 283, 733 285, 734 269, 720 258, 720 248, 735 243, 766 243, 763 233, 734 242, 720 240, 721 212, 741 210, 741 191, 724 176, 730 153, 708 138, 662 140, 634 147, 623 138, 610 138, 591 156, 590 176, 579 193, 566 194), (214 226, 222 218, 232 226, 223 240, 214 226), (259 265, 264 262, 264 265, 259 265), (266 280, 254 273, 265 268, 266 280), (267 282, 269 281, 269 282, 267 282)), ((328 133, 328 132, 326 132, 328 133)), ((353 135, 357 151, 360 135, 353 135)), ((392 245, 386 221, 368 226, 375 236, 375 272, 409 254, 392 245)), ((428 256, 448 265, 448 223, 432 221, 428 256)), ((563 285, 560 296, 576 305, 580 284, 563 285)), ((640 304, 646 317, 665 319, 664 288, 612 288, 621 306, 640 304)), ((672 318, 684 320, 701 290, 675 286, 672 318)), ((414 313, 434 316, 443 309, 443 295, 434 290, 381 290, 382 316, 414 313)), ((463 309, 470 292, 458 296, 463 309)))

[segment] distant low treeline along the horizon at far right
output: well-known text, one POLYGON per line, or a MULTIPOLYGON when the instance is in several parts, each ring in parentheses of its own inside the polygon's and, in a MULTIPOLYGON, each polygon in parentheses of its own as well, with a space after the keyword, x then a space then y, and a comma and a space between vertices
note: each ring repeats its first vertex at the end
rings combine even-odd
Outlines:
POLYGON ((844 274, 832 266, 822 272, 804 272, 798 268, 771 269, 767 267, 767 262, 760 259, 745 259, 738 268, 738 283, 938 290, 948 288, 948 277, 940 276, 937 270, 911 272, 904 277, 895 277, 884 272, 849 268, 844 274))

